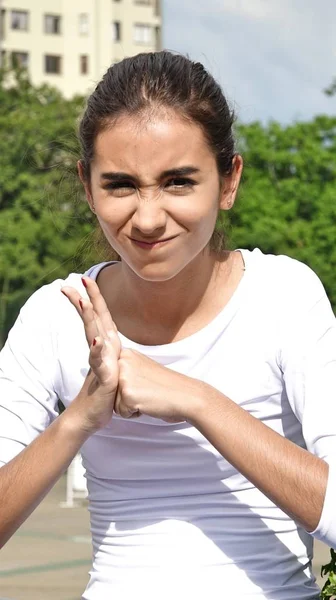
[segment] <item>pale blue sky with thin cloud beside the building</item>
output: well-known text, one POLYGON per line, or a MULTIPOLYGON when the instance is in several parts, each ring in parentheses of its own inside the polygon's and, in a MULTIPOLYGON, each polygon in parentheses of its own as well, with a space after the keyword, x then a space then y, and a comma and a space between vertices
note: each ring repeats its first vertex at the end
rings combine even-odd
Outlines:
POLYGON ((200 60, 240 120, 336 114, 336 0, 163 0, 163 44, 200 60))

